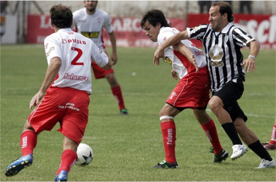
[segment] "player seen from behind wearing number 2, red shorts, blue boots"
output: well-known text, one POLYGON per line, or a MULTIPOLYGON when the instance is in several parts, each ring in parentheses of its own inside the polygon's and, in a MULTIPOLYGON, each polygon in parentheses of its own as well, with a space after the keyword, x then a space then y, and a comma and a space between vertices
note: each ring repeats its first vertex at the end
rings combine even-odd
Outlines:
POLYGON ((77 146, 88 122, 89 95, 92 92, 91 59, 104 69, 112 67, 107 55, 93 41, 70 28, 73 14, 69 7, 55 5, 50 16, 55 33, 44 41, 48 68, 38 93, 30 102, 30 109, 36 108, 28 117, 21 135, 22 157, 5 170, 9 177, 33 163, 37 135, 52 130, 59 123, 64 139, 55 181, 67 181, 68 172, 78 159, 77 146))

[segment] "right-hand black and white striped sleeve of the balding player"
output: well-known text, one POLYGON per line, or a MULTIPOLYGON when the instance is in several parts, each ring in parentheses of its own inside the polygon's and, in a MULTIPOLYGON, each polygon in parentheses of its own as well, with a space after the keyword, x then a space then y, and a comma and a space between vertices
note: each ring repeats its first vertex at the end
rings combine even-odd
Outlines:
POLYGON ((251 35, 247 34, 240 28, 235 28, 232 31, 232 36, 234 39, 235 44, 237 44, 240 47, 247 46, 247 44, 253 40, 255 40, 251 35))

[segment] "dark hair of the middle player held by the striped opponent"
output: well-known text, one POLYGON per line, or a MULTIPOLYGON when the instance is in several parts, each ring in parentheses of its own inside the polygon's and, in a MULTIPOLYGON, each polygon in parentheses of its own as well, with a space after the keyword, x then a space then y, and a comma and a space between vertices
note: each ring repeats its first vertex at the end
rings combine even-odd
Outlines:
POLYGON ((161 24, 161 27, 171 27, 171 23, 168 23, 164 13, 160 10, 150 10, 143 16, 141 21, 141 27, 145 25, 146 22, 149 22, 154 27, 157 26, 158 23, 161 24))

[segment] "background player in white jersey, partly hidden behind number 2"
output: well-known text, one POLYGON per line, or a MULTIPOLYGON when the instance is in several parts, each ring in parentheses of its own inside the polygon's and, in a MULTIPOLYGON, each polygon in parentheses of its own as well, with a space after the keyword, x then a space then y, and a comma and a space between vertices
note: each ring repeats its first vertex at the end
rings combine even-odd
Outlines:
MULTIPOLYGON (((117 62, 116 37, 108 14, 97 8, 98 1, 84 1, 85 8, 73 13, 72 28, 87 38, 90 38, 101 50, 105 51, 103 44, 103 28, 108 32, 112 46, 111 60, 113 65, 117 62)), ((92 68, 96 79, 106 78, 111 87, 111 92, 115 97, 121 115, 128 115, 125 108, 121 87, 115 77, 113 67, 109 70, 102 69, 92 62, 92 68)))

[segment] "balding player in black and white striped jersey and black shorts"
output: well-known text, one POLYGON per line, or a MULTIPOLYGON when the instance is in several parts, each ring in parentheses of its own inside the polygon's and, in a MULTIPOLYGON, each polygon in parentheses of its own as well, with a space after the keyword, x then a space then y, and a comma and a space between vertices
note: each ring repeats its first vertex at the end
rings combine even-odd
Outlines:
POLYGON ((228 3, 213 3, 209 15, 210 24, 187 28, 162 44, 155 52, 154 62, 163 56, 165 48, 178 44, 181 40, 201 40, 211 78, 212 98, 209 106, 233 143, 231 159, 241 157, 248 150, 241 138, 261 158, 256 168, 274 167, 274 159, 261 145, 255 133, 246 126, 247 117, 237 103, 244 90, 245 71, 255 71, 254 61, 260 46, 251 35, 232 25, 234 17, 228 3), (246 59, 243 59, 240 52, 243 46, 250 48, 246 59))

